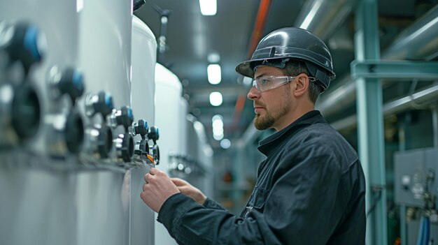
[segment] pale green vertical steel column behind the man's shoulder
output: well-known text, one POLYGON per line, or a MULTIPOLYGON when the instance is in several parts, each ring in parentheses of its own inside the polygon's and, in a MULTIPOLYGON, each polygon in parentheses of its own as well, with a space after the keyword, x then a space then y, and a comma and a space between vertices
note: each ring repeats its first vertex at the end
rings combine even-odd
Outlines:
MULTIPOLYGON (((379 60, 377 1, 362 0, 355 15, 355 59, 379 60)), ((386 215, 386 174, 383 157, 383 112, 381 82, 376 78, 358 77, 357 110, 359 156, 367 181, 366 207, 372 206, 373 187, 382 187, 381 198, 367 218, 367 244, 388 244, 386 215)), ((378 193, 374 193, 378 195, 378 193)))

